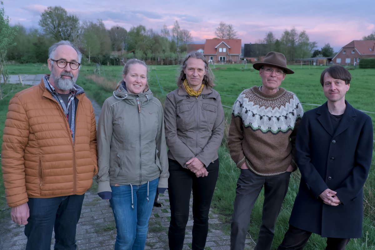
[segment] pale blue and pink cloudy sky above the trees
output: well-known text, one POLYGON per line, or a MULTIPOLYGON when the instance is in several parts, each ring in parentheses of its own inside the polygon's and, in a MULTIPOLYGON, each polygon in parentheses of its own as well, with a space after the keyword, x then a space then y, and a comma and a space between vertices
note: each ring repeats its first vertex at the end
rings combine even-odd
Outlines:
POLYGON ((232 24, 242 44, 258 43, 268 32, 281 38, 285 30, 306 31, 320 49, 329 43, 335 51, 375 31, 375 0, 2 0, 10 24, 37 28, 48 6, 62 6, 80 21, 101 19, 107 29, 130 30, 144 25, 160 33, 175 20, 187 29, 193 43, 215 37, 222 21, 232 24))

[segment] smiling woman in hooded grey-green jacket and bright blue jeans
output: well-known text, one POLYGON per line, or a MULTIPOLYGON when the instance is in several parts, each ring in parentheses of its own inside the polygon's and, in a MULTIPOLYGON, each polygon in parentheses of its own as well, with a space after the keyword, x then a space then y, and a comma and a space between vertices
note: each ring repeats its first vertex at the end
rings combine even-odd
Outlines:
POLYGON ((144 61, 128 60, 123 77, 99 117, 98 195, 113 209, 115 250, 143 250, 156 190, 168 187, 163 108, 144 61))

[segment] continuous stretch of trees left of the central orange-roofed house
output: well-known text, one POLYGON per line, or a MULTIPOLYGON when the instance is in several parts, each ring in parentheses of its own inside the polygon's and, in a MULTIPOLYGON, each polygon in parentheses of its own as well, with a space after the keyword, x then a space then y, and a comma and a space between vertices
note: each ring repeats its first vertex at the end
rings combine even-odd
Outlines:
POLYGON ((20 63, 46 62, 48 47, 60 40, 75 42, 84 54, 84 63, 119 64, 119 60, 178 60, 186 53, 187 44, 193 42, 189 30, 181 29, 176 20, 171 30, 164 24, 160 32, 143 25, 129 30, 114 26, 107 30, 102 20, 83 21, 60 7, 48 7, 39 20, 40 29, 21 25, 11 28, 15 32, 14 46, 10 46, 6 60, 20 63), (117 51, 117 53, 113 53, 117 51))

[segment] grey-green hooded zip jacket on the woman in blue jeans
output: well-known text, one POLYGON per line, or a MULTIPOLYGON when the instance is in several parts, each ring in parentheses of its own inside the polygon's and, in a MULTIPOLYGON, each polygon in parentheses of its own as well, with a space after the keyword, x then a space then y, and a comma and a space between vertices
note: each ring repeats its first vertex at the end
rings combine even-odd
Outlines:
POLYGON ((120 85, 104 101, 97 140, 98 193, 158 177, 158 187, 168 187, 163 107, 150 90, 136 95, 120 85))

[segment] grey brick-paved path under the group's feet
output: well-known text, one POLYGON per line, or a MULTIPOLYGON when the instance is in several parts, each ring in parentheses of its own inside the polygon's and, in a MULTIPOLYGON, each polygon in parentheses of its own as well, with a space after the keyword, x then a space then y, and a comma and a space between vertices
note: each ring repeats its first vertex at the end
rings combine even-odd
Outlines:
MULTIPOLYGON (((14 77, 17 79, 16 77, 14 77)), ((28 78, 33 78, 28 76, 28 78)), ((36 78, 36 77, 34 77, 36 78)), ((34 81, 34 84, 39 83, 34 81)), ((101 107, 93 101, 96 118, 98 118, 101 107)), ((97 120, 98 121, 98 120, 97 120)), ((94 185, 96 186, 96 185, 94 185)), ((168 249, 168 226, 170 219, 168 191, 159 195, 159 202, 163 204, 160 208, 153 208, 146 241, 145 250, 166 250, 168 249)), ((186 226, 186 234, 183 250, 191 249, 192 241, 192 199, 190 199, 190 216, 186 226)), ((10 209, 8 210, 8 214, 10 209)), ((228 250, 229 235, 223 230, 218 215, 210 211, 209 229, 206 243, 206 250, 228 250)), ((77 225, 77 249, 78 250, 113 250, 116 238, 116 229, 112 209, 107 200, 102 200, 96 193, 95 187, 85 194, 80 221, 77 225)), ((54 237, 51 240, 53 249, 54 237)), ((24 226, 18 226, 10 220, 10 216, 0 221, 0 250, 24 250, 26 247, 26 236, 24 226)), ((246 239, 245 249, 254 248, 251 238, 246 239)))

